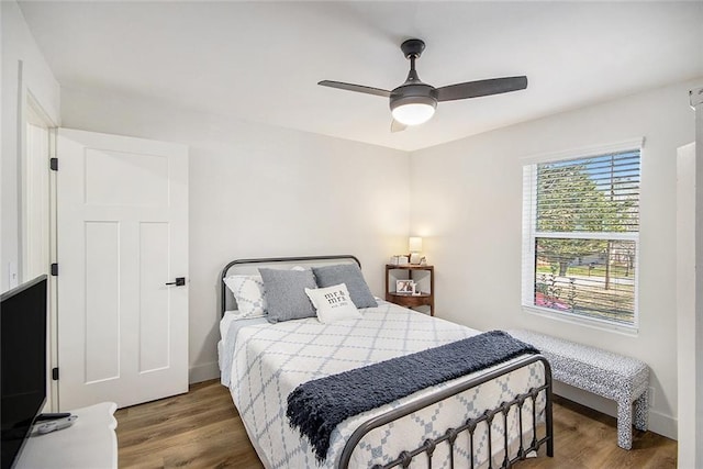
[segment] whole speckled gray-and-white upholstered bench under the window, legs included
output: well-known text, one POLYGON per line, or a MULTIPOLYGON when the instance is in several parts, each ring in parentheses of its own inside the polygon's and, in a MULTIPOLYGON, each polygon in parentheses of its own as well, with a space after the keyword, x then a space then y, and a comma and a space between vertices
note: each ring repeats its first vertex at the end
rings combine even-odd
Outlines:
POLYGON ((635 428, 646 431, 649 415, 649 367, 644 361, 532 331, 507 331, 534 345, 551 365, 555 380, 617 402, 617 446, 633 446, 635 428))

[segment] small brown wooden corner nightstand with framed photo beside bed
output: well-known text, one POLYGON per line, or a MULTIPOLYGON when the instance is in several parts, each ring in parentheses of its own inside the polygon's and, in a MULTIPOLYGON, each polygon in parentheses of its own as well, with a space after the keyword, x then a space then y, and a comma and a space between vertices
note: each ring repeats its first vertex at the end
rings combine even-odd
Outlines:
POLYGON ((429 315, 435 315, 435 268, 434 266, 419 266, 406 264, 404 266, 386 265, 386 301, 400 304, 405 308, 429 306, 429 315), (398 277, 397 277, 398 276, 398 277), (410 279, 422 287, 420 294, 398 293, 394 280, 410 279), (428 277, 428 278, 427 278, 428 277))

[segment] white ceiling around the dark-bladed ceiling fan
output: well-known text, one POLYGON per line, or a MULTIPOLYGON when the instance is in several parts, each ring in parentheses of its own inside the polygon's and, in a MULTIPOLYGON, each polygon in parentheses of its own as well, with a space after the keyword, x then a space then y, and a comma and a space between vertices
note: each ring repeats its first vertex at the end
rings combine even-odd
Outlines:
POLYGON ((703 2, 22 1, 63 87, 413 150, 703 77, 703 2), (526 90, 439 103, 391 134, 388 100, 317 86, 392 89, 427 44, 440 87, 526 75, 526 90))

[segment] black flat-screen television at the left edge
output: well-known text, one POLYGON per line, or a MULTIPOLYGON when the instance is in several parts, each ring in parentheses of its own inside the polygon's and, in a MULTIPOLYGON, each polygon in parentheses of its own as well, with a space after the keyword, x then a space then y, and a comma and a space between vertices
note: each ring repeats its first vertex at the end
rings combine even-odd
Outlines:
POLYGON ((0 297, 1 469, 12 468, 46 402, 46 276, 0 297))

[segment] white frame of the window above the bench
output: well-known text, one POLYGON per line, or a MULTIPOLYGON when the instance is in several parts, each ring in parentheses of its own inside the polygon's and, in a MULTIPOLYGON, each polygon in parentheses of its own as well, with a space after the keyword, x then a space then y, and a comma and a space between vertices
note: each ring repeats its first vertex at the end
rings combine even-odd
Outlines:
MULTIPOLYGON (((637 232, 537 232, 537 165, 544 163, 557 163, 577 158, 604 156, 612 153, 639 150, 639 200, 641 201, 643 178, 643 149, 644 137, 632 138, 609 145, 598 145, 574 148, 566 152, 538 154, 521 158, 523 167, 523 245, 522 245, 522 310, 528 314, 590 326, 609 332, 618 332, 626 335, 637 335, 639 331, 639 234, 637 232), (580 239, 622 239, 635 243, 635 284, 634 284, 634 320, 632 324, 617 323, 599 317, 590 317, 567 311, 556 311, 535 304, 535 244, 536 238, 580 238, 580 239)), ((641 214, 641 205, 639 208, 641 214)))

